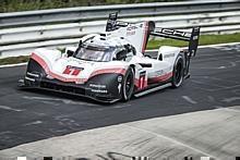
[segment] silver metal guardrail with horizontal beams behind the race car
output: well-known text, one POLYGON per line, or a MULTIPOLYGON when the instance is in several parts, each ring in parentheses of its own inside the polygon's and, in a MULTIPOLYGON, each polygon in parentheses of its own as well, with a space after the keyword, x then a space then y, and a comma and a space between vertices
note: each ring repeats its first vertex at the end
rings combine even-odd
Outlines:
POLYGON ((203 34, 240 32, 240 1, 166 2, 84 7, 0 13, 0 58, 28 54, 37 47, 76 45, 88 33, 105 29, 108 13, 119 12, 128 22, 155 21, 156 26, 203 34))

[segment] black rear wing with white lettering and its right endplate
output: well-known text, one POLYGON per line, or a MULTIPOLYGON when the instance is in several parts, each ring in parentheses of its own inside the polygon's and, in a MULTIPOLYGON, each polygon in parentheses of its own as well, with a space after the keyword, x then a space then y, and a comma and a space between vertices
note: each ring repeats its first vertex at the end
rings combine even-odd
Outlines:
POLYGON ((190 57, 194 57, 196 54, 196 49, 199 46, 199 38, 200 38, 200 27, 199 26, 193 27, 191 33, 176 30, 176 29, 169 29, 169 28, 155 28, 153 32, 151 32, 151 35, 177 39, 177 40, 189 41, 190 57))

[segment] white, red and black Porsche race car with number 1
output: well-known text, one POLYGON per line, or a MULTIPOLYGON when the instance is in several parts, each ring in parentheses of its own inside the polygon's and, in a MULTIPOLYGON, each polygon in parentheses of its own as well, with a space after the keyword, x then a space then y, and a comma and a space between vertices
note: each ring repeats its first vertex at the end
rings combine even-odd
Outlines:
POLYGON ((165 87, 177 88, 190 76, 200 27, 191 33, 155 27, 152 21, 128 23, 109 14, 106 30, 80 39, 65 52, 45 48, 32 52, 24 88, 50 89, 101 102, 128 101, 165 87), (145 52, 149 36, 189 41, 189 48, 161 46, 156 56, 145 52))

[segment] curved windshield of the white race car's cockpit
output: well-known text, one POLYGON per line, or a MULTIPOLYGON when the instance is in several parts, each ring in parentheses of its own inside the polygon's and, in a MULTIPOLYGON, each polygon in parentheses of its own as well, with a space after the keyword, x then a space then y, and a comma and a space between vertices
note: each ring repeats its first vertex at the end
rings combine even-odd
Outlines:
POLYGON ((86 61, 108 62, 111 61, 115 53, 112 47, 98 48, 92 46, 83 46, 76 50, 74 57, 86 61))

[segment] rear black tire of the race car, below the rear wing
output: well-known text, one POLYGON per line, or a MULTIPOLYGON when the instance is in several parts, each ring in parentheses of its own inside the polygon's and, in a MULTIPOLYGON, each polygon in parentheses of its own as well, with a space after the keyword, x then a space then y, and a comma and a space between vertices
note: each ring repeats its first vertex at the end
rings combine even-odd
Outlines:
POLYGON ((184 69, 183 69, 183 58, 181 54, 177 57, 177 60, 175 62, 173 71, 172 71, 172 87, 178 88, 183 83, 184 77, 184 69))

